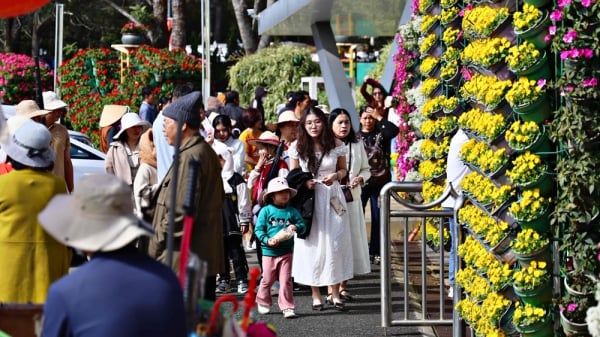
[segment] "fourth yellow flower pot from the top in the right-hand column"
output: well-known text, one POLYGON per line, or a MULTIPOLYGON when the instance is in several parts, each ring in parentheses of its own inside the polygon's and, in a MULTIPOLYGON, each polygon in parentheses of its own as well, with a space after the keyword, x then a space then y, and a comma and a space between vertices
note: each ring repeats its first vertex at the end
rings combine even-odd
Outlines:
POLYGON ((552 150, 546 129, 535 122, 516 121, 512 123, 506 130, 504 139, 508 142, 508 146, 517 153, 530 151, 544 155, 552 150))

